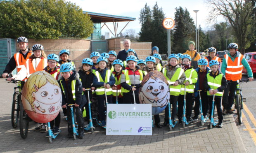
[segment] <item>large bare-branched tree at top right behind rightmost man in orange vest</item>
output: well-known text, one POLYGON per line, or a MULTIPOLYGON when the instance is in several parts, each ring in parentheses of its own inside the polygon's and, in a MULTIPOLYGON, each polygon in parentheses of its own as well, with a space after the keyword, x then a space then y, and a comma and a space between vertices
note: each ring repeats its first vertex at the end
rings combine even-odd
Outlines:
POLYGON ((235 32, 239 49, 242 53, 249 47, 248 35, 252 30, 251 21, 254 4, 249 0, 208 0, 211 6, 209 21, 219 15, 227 19, 235 32))

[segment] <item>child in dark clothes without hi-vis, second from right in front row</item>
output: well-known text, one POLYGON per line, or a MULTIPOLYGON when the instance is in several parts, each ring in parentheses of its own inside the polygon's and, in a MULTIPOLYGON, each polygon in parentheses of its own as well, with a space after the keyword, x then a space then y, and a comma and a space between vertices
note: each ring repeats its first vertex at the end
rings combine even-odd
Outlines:
POLYGON ((204 118, 207 118, 207 112, 209 110, 209 102, 208 102, 207 92, 204 89, 204 79, 206 77, 206 74, 208 74, 209 71, 211 70, 209 67, 207 67, 207 65, 208 65, 208 61, 205 58, 201 58, 200 60, 198 60, 198 68, 196 68, 198 78, 197 78, 197 83, 195 84, 195 92, 194 92, 196 104, 194 105, 194 116, 192 117, 193 121, 197 121, 199 116, 200 101, 199 101, 198 90, 201 90, 200 95, 201 95, 203 115, 204 115, 204 118))

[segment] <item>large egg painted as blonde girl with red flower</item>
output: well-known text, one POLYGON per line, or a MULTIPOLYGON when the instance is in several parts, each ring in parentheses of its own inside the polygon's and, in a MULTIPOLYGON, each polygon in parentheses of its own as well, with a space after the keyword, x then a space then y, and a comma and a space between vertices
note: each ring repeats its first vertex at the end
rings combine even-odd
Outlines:
POLYGON ((22 89, 21 99, 28 116, 38 123, 54 120, 62 108, 59 83, 45 71, 29 76, 22 89))

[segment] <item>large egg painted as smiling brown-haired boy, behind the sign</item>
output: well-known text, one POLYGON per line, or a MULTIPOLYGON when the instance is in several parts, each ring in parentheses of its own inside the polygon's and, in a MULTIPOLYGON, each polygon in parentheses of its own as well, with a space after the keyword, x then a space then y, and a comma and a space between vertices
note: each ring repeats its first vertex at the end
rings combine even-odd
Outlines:
POLYGON ((152 115, 161 113, 170 99, 170 89, 164 74, 149 72, 142 80, 139 92, 141 104, 152 104, 152 115))

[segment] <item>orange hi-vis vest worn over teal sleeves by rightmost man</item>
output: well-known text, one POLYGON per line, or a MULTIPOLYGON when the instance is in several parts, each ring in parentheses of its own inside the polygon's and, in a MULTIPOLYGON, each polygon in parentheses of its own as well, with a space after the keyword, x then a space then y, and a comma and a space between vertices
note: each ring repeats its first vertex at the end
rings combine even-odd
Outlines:
POLYGON ((242 59, 244 56, 239 54, 238 57, 235 58, 234 62, 231 60, 231 58, 228 56, 228 54, 224 55, 224 59, 227 63, 227 68, 225 71, 225 76, 227 80, 230 81, 237 81, 242 78, 242 59))

